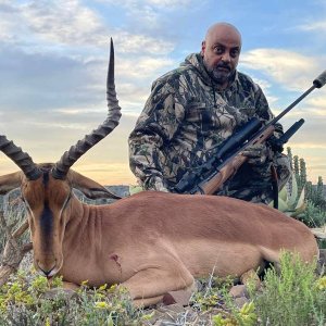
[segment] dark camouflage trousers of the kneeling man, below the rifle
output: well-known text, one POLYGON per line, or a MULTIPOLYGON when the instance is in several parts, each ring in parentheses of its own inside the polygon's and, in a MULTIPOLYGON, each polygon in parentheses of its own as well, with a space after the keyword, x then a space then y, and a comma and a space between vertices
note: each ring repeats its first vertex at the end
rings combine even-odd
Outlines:
POLYGON ((279 191, 291 175, 289 159, 280 153, 276 154, 272 162, 267 161, 259 166, 244 163, 216 195, 268 204, 274 199, 272 164, 276 168, 279 191))

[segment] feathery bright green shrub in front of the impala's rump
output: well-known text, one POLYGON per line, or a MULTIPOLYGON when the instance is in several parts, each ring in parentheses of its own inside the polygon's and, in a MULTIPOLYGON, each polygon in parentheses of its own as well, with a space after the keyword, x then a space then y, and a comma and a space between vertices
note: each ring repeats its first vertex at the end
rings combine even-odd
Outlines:
POLYGON ((280 275, 275 268, 266 272, 263 290, 251 293, 262 325, 325 325, 326 286, 316 278, 315 266, 286 252, 280 275))

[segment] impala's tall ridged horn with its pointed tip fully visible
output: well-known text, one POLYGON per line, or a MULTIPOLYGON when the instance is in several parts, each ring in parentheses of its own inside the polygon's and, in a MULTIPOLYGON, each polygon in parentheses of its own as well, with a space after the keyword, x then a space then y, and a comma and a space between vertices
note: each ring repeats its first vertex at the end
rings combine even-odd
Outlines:
POLYGON ((86 135, 84 139, 78 140, 75 146, 72 146, 55 163, 52 170, 52 176, 57 179, 64 179, 71 166, 84 155, 90 148, 92 148, 100 140, 105 138, 117 125, 121 117, 121 108, 116 99, 114 85, 114 48, 111 38, 110 61, 106 78, 106 100, 109 114, 106 120, 92 130, 90 135, 86 135))

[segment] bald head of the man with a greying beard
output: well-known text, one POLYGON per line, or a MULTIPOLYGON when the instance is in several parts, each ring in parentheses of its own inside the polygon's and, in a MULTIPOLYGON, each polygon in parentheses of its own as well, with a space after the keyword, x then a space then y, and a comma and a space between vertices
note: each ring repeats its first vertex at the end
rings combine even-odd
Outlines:
POLYGON ((241 35, 227 23, 211 26, 201 45, 204 65, 211 77, 225 88, 239 61, 241 35))

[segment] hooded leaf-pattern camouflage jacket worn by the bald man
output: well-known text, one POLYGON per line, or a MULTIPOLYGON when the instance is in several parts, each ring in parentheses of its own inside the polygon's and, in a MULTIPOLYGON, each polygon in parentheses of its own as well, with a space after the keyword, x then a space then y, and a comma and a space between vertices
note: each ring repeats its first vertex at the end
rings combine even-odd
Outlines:
POLYGON ((273 118, 263 91, 250 77, 236 72, 234 82, 218 90, 201 55, 190 54, 153 83, 129 136, 130 168, 145 189, 171 190, 253 116, 263 123, 273 118))

